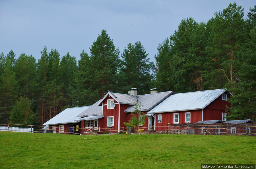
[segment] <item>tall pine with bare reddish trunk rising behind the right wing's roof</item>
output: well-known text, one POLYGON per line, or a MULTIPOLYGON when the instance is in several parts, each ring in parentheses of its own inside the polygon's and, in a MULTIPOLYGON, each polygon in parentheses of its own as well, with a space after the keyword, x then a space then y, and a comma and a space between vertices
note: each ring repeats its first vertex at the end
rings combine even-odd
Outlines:
POLYGON ((216 81, 214 83, 210 80, 213 88, 221 88, 225 83, 236 81, 234 62, 239 57, 236 56, 236 51, 244 41, 244 25, 243 9, 236 3, 230 3, 222 12, 216 12, 208 24, 212 27, 210 29, 213 41, 207 47, 208 56, 212 58, 208 59, 208 62, 217 62, 218 69, 213 69, 205 78, 213 78, 216 81))

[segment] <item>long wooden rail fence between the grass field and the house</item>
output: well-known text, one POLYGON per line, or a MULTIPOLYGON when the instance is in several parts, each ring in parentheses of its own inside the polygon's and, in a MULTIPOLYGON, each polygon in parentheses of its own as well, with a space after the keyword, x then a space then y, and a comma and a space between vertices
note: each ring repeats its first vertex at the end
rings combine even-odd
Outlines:
POLYGON ((59 127, 33 126, 24 124, 0 124, 0 131, 10 132, 30 132, 30 133, 56 133, 56 134, 76 134, 76 135, 111 135, 111 134, 196 134, 196 135, 248 135, 256 136, 256 123, 243 124, 169 124, 167 126, 151 127, 122 127, 107 128, 88 126, 59 127), (57 131, 57 132, 56 132, 57 131))

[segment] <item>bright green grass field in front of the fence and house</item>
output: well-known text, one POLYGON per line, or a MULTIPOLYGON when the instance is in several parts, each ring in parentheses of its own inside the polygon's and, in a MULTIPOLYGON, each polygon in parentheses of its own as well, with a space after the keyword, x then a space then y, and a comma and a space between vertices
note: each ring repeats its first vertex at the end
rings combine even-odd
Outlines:
POLYGON ((0 132, 0 138, 0 168, 200 168, 256 160, 254 136, 0 132))

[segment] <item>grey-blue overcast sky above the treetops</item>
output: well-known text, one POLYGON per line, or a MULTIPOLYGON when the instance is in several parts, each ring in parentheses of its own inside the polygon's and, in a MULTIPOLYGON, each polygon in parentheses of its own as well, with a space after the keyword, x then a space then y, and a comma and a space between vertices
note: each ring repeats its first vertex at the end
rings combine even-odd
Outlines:
MULTIPOLYGON (((56 48, 60 56, 69 52, 80 59, 102 29, 106 29, 122 53, 128 43, 141 41, 148 57, 155 62, 157 47, 174 33, 183 18, 207 22, 216 11, 234 1, 0 1, 0 53, 12 49, 16 58, 32 54, 36 61, 44 46, 56 48), (133 26, 131 26, 133 24, 133 26)), ((237 0, 244 17, 255 0, 237 0)))

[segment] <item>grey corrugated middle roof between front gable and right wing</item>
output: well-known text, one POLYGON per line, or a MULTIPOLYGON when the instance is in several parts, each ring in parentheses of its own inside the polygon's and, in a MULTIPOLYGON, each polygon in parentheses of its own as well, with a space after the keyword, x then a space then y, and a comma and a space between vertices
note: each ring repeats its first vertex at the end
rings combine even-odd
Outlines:
MULTIPOLYGON (((139 108, 140 111, 148 111, 156 106, 158 103, 162 102, 168 96, 170 96, 173 91, 168 92, 160 92, 160 93, 153 93, 153 94, 144 94, 139 95, 138 103, 141 104, 139 108)), ((128 107, 125 112, 132 112, 135 110, 135 105, 128 107)))

